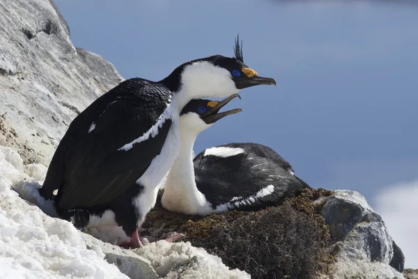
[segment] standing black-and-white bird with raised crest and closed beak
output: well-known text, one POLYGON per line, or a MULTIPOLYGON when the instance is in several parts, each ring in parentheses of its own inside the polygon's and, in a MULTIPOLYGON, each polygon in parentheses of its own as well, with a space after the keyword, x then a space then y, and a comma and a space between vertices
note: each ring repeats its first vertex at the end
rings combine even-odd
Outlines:
POLYGON ((180 150, 183 107, 193 98, 276 84, 247 67, 239 40, 234 50, 232 58, 196 59, 159 82, 132 78, 104 93, 68 127, 40 195, 54 198, 59 215, 75 227, 115 224, 130 237, 121 246, 139 247, 138 227, 180 150))

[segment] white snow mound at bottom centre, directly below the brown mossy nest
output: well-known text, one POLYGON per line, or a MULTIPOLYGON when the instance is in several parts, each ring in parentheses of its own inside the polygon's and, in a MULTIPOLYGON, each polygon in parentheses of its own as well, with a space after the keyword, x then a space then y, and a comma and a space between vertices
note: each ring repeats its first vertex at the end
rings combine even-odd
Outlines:
POLYGON ((179 278, 179 275, 183 279, 251 278, 244 271, 230 270, 219 257, 189 242, 157 241, 146 244, 136 253, 148 259, 157 274, 167 279, 179 278))

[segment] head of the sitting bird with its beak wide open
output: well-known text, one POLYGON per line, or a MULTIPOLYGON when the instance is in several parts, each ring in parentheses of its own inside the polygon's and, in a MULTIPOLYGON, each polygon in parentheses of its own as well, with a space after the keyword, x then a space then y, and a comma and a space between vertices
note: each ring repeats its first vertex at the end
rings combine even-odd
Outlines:
POLYGON ((222 107, 236 97, 241 98, 238 94, 233 94, 222 101, 206 99, 191 100, 180 112, 180 123, 188 127, 194 126, 199 131, 204 130, 225 116, 242 112, 241 109, 219 112, 222 107))

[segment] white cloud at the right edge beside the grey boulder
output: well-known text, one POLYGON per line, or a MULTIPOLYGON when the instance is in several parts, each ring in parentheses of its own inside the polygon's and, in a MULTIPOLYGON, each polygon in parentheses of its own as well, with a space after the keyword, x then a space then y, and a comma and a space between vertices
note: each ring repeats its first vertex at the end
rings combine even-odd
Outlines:
POLYGON ((374 202, 376 212, 405 255, 405 268, 418 269, 418 179, 385 187, 374 202))

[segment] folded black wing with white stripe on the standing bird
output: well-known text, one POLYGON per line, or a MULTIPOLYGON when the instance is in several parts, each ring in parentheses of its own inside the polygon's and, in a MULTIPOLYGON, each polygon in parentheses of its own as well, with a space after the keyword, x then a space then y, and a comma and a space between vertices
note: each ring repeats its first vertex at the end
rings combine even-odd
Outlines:
POLYGON ((91 120, 89 128, 68 143, 61 208, 110 202, 160 154, 171 127, 171 93, 159 86, 128 92, 116 93, 99 116, 84 119, 91 120))

